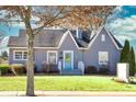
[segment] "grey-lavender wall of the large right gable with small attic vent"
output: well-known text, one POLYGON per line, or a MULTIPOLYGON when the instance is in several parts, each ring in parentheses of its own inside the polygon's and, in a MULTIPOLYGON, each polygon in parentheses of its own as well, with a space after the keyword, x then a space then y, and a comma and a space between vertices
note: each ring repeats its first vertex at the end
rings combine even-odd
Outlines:
POLYGON ((100 35, 95 38, 91 47, 83 53, 83 61, 87 66, 95 66, 98 69, 99 66, 99 52, 109 52, 109 66, 110 71, 115 72, 116 63, 120 60, 120 50, 116 49, 112 39, 107 35, 106 31, 103 29, 100 32, 100 35), (101 41, 101 35, 105 35, 105 42, 101 41))

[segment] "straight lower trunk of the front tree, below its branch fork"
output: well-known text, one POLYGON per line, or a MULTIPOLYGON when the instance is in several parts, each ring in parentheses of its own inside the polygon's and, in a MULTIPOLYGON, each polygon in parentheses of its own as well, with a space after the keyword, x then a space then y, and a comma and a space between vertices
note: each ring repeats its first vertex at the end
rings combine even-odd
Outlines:
POLYGON ((27 37, 27 82, 26 95, 34 97, 34 35, 31 30, 26 29, 27 37))

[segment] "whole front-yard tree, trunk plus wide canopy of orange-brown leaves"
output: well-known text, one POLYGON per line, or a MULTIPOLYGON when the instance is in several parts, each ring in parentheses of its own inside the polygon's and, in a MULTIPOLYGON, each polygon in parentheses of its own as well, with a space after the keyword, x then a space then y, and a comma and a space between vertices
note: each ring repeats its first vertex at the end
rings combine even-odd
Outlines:
POLYGON ((106 18, 115 7, 0 7, 4 14, 0 22, 5 24, 23 23, 26 32, 27 46, 27 84, 26 95, 34 95, 34 37, 42 34, 44 27, 79 26, 97 30, 105 24, 106 18), (34 22, 33 22, 34 21, 34 22), (32 25, 32 22, 36 27, 32 25))

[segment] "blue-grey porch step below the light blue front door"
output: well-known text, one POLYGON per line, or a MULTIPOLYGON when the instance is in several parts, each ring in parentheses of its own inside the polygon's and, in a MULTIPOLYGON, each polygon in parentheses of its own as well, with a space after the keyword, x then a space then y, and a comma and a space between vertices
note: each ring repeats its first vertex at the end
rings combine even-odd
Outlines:
POLYGON ((61 70, 63 76, 80 76, 82 75, 82 71, 80 69, 73 69, 73 70, 61 70))

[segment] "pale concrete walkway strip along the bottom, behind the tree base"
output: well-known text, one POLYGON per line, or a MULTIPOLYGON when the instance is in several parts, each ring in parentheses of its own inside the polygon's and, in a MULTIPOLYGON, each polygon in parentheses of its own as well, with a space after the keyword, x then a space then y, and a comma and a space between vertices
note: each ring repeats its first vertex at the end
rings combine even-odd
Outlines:
MULTIPOLYGON (((35 91, 37 97, 136 97, 136 92, 35 91)), ((24 97, 25 91, 0 91, 0 97, 24 97)))

